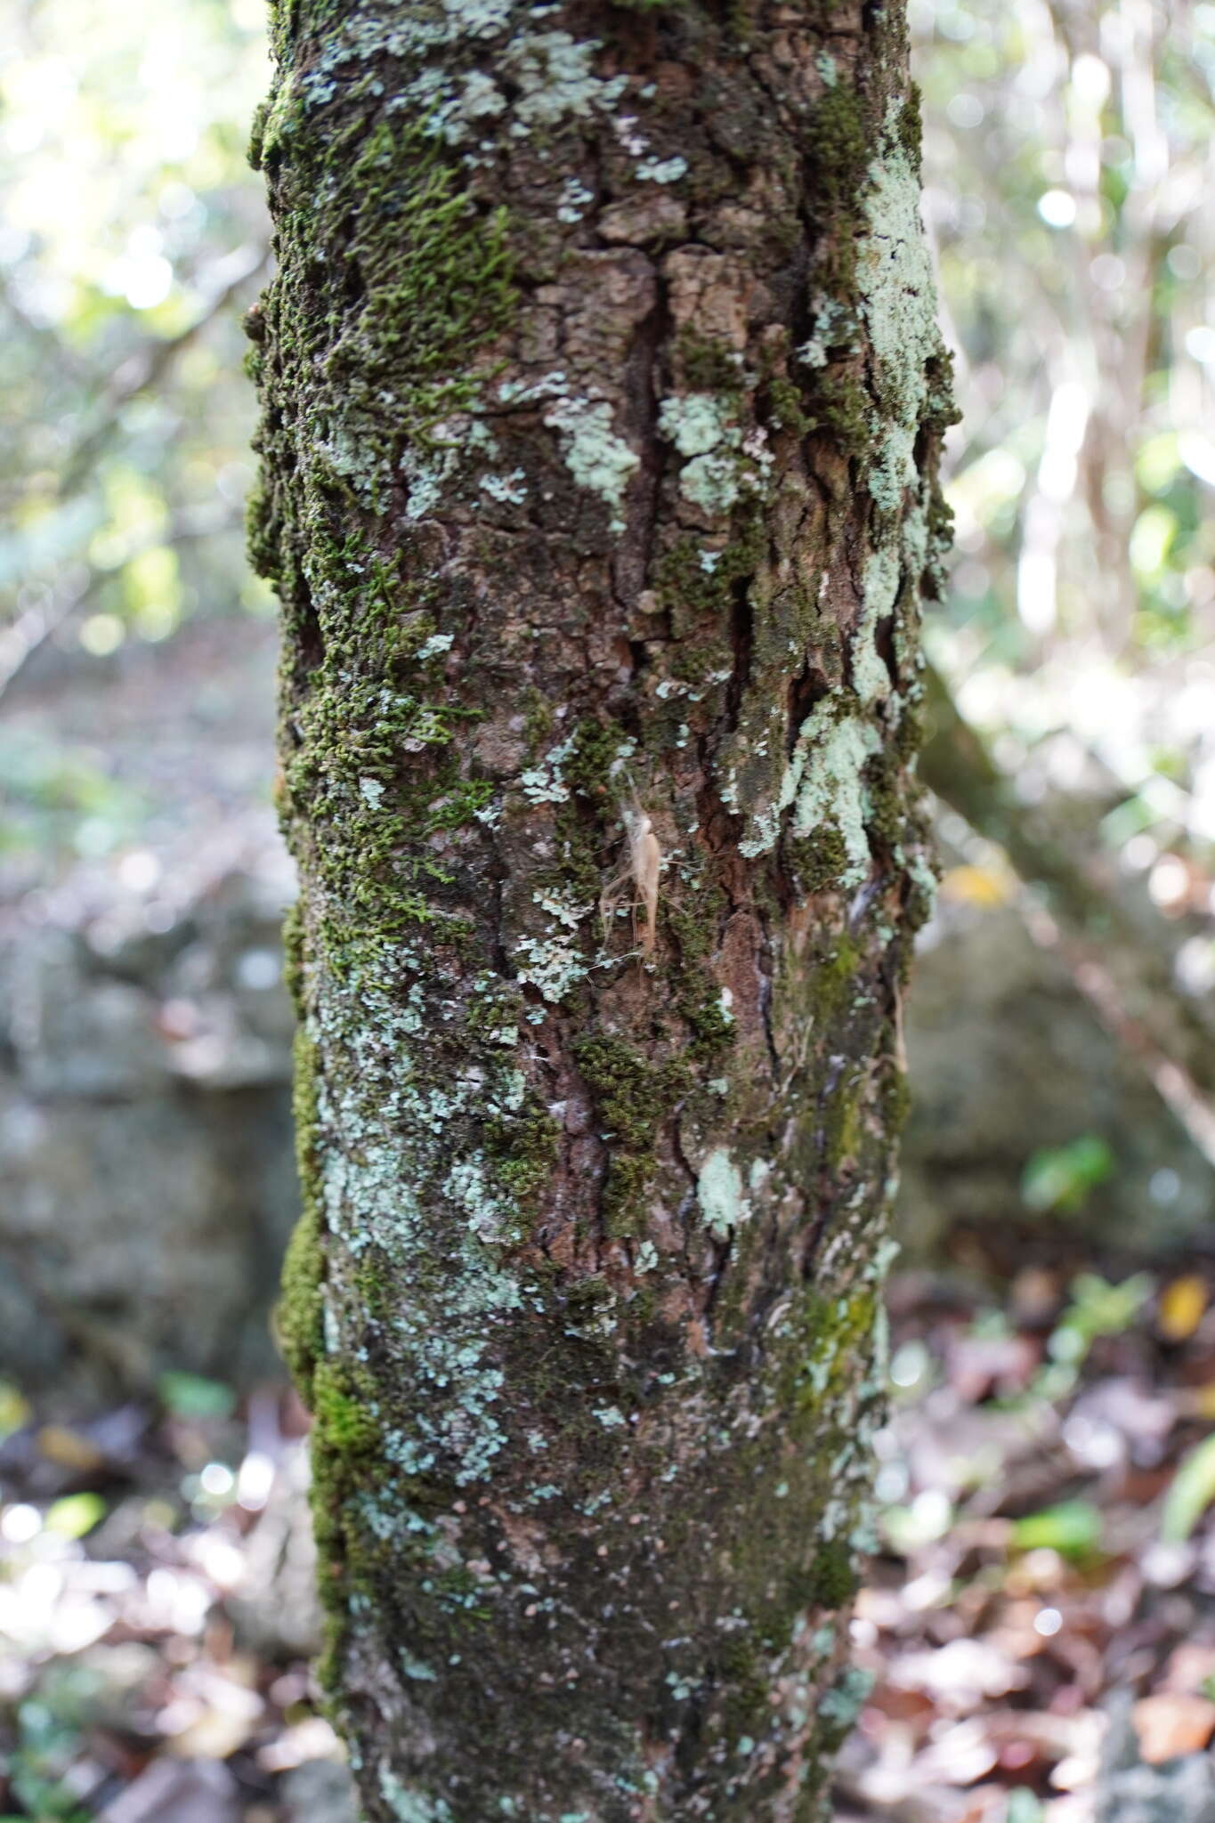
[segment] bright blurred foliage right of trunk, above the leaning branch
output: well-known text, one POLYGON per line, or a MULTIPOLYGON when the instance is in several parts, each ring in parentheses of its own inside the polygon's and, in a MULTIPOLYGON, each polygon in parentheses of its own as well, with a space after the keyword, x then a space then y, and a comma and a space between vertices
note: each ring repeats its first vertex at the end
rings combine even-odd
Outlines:
POLYGON ((1024 798, 1104 800, 1157 904, 1210 919, 1215 5, 911 18, 964 410, 929 651, 1024 798))

